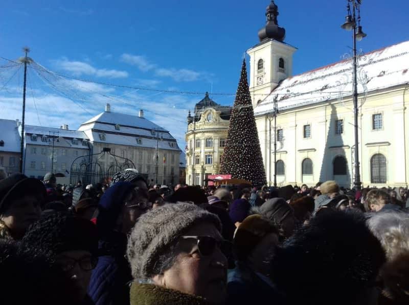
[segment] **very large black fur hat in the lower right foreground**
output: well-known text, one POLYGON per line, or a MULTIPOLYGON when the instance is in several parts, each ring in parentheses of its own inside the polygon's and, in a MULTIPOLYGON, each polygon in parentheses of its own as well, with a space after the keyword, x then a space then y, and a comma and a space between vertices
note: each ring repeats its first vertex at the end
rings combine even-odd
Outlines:
POLYGON ((351 304, 375 287, 385 253, 365 215, 326 210, 289 238, 272 261, 273 280, 288 304, 351 304))

